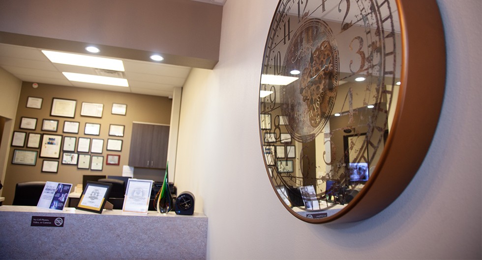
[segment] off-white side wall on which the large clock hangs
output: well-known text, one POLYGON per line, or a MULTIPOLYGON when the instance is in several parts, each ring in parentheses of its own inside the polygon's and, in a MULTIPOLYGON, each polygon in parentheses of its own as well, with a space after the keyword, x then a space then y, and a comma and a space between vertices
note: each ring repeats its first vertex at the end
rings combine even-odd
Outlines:
POLYGON ((176 168, 180 191, 209 217, 209 259, 481 259, 482 4, 438 2, 448 74, 434 142, 390 207, 339 225, 292 216, 263 165, 259 75, 277 0, 226 2, 220 61, 183 89, 176 168))

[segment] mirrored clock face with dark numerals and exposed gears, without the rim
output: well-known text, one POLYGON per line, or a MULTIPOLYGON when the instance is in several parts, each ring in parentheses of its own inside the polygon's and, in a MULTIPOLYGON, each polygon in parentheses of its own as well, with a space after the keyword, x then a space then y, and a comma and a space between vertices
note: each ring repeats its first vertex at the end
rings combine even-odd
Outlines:
POLYGON ((277 196, 303 220, 338 214, 376 178, 398 95, 394 16, 392 1, 278 3, 261 75, 261 147, 277 196))

